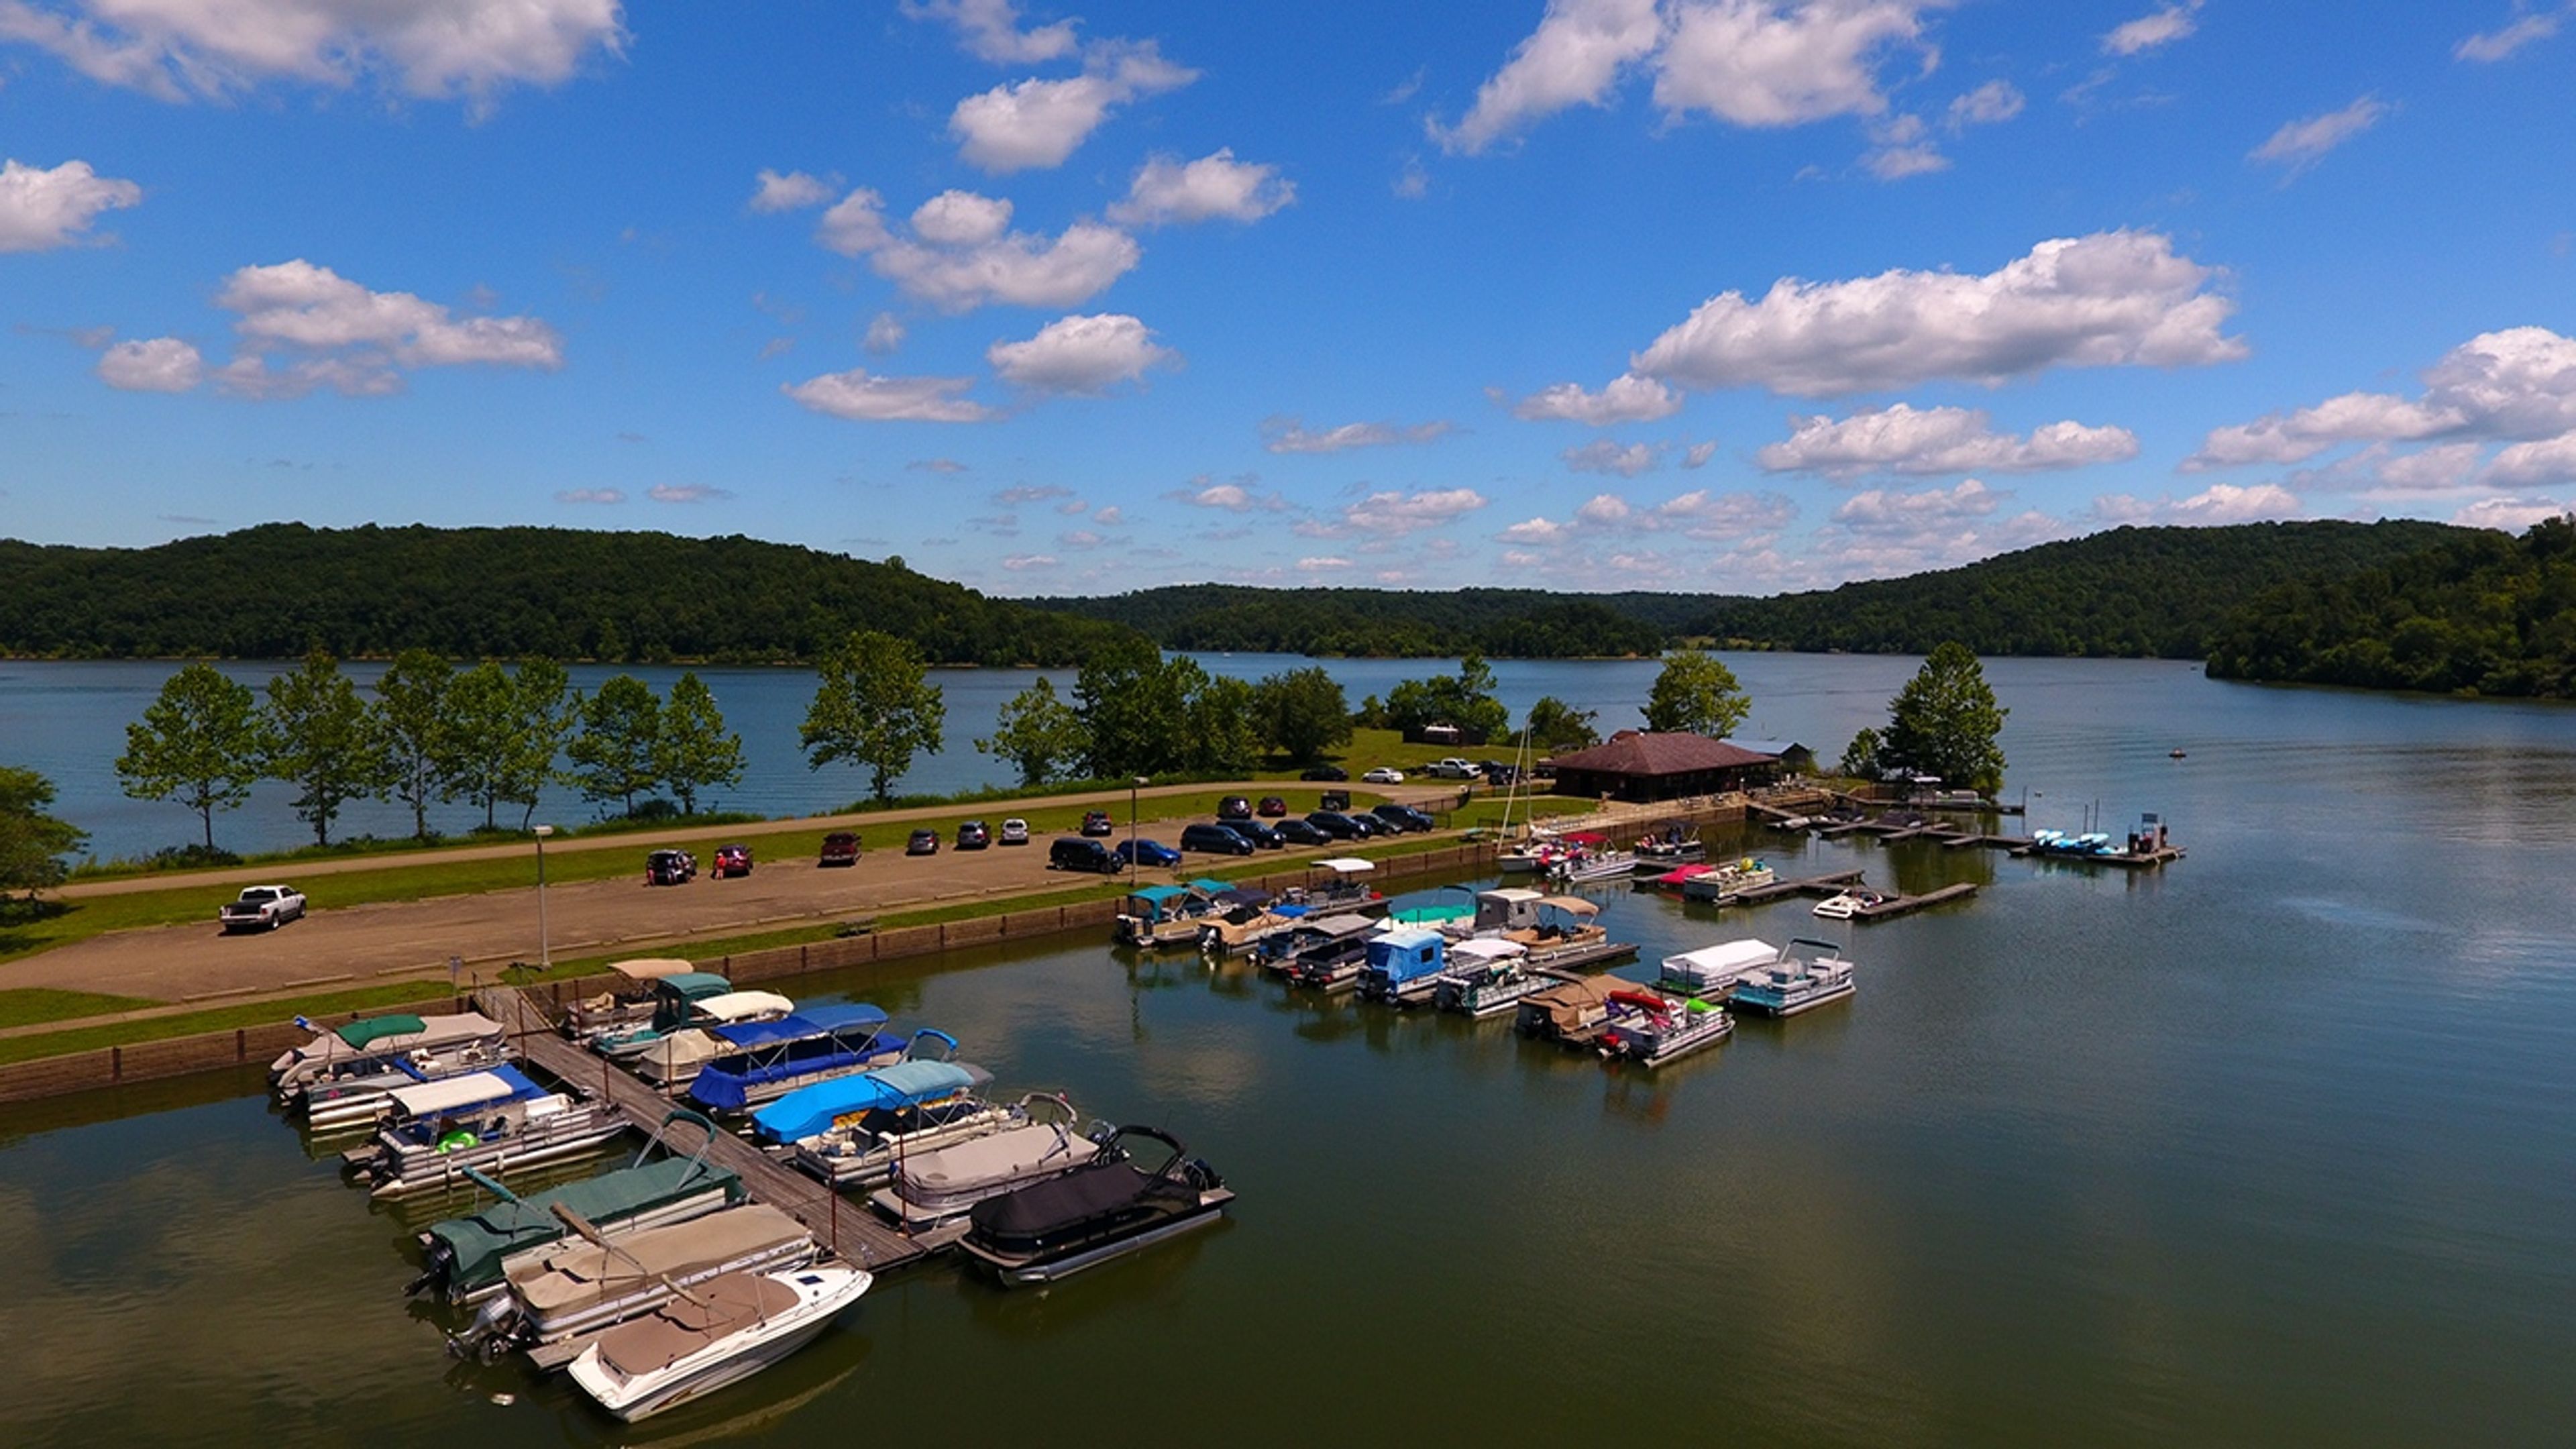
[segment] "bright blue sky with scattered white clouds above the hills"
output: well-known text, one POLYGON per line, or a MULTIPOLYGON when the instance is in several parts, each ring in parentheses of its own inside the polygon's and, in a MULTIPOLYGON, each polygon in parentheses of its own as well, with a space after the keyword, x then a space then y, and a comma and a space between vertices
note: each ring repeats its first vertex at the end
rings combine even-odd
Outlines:
POLYGON ((0 0, 0 534, 1770 593, 2522 526, 2568 95, 2517 0, 0 0))

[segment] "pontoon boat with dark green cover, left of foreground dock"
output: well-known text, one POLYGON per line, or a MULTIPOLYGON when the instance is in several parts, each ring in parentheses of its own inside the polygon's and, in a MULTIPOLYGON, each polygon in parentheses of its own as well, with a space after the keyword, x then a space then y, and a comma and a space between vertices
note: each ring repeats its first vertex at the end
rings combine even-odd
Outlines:
MULTIPOLYGON (((696 1111, 672 1111, 662 1127, 680 1119, 693 1122, 714 1140, 716 1124, 696 1111)), ((654 1132, 631 1165, 528 1196, 471 1173, 474 1183, 495 1201, 464 1217, 433 1222, 420 1235, 422 1271, 407 1292, 428 1292, 446 1302, 482 1302, 502 1292, 510 1269, 564 1240, 567 1225, 554 1212, 556 1207, 569 1207, 603 1235, 616 1238, 706 1217, 744 1199, 742 1178, 729 1168, 708 1165, 703 1145, 688 1158, 647 1160, 659 1142, 662 1132, 654 1132)))

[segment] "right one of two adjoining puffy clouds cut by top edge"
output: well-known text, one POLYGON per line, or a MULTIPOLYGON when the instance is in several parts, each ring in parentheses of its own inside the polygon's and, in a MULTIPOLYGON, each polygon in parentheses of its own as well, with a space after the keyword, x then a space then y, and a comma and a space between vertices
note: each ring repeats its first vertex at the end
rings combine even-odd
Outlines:
POLYGON ((1654 101, 1736 126, 1875 116, 1888 106, 1878 62, 1922 36, 1919 10, 1922 0, 1672 0, 1654 101))

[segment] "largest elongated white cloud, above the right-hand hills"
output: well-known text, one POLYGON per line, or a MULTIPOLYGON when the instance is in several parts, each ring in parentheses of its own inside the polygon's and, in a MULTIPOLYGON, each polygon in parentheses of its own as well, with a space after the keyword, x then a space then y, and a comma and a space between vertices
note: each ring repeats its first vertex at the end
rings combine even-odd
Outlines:
POLYGON ((1886 271, 1780 278, 1759 302, 1726 291, 1628 358, 1682 387, 1842 394, 1937 376, 2004 382, 2050 366, 2233 361, 2218 327, 2236 304, 2156 232, 2094 232, 2030 248, 1986 276, 1886 271))

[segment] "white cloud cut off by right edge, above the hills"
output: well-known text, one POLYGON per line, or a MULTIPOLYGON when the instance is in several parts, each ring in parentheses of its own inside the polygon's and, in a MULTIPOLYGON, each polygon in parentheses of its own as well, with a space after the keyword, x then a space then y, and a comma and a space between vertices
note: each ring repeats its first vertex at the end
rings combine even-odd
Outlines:
POLYGON ((2424 371, 2421 397, 2347 392, 2316 407, 2215 428, 2182 467, 2197 472, 2303 462, 2339 443, 2411 443, 2445 436, 2535 441, 2571 431, 2576 431, 2576 338, 2548 327, 2506 327, 2481 333, 2445 353, 2424 371))

